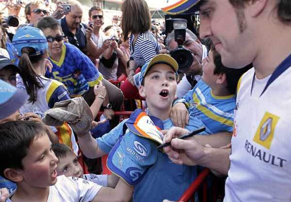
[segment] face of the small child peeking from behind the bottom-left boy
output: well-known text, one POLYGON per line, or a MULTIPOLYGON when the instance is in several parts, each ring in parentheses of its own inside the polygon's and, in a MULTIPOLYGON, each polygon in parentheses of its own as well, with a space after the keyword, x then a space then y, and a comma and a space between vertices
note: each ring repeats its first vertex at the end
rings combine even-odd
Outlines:
POLYGON ((74 152, 67 153, 65 158, 59 158, 57 172, 58 175, 65 175, 66 177, 81 178, 83 176, 83 169, 74 152))

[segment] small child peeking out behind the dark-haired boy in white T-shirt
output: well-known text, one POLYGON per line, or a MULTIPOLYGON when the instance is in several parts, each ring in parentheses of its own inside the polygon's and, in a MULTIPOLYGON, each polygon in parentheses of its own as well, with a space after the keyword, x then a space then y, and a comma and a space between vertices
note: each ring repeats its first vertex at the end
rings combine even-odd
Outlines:
POLYGON ((55 143, 51 145, 51 148, 59 159, 56 168, 58 176, 80 177, 98 185, 113 188, 116 186, 119 178, 115 175, 84 174, 77 155, 65 144, 55 143))

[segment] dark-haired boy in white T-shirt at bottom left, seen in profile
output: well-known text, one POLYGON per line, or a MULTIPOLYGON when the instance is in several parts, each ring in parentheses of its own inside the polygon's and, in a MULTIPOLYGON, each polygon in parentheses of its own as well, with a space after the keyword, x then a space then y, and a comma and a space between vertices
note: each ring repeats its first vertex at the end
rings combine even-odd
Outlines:
POLYGON ((17 185, 8 202, 129 201, 131 192, 124 192, 123 184, 113 189, 77 177, 57 176, 58 158, 43 124, 8 122, 0 124, 0 134, 0 176, 17 185))

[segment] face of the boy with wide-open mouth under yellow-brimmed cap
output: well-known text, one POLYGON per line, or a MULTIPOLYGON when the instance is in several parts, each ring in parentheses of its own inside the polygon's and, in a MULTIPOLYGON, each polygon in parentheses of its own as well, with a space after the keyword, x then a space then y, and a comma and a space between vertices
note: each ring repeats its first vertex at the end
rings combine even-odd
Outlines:
POLYGON ((172 67, 166 64, 153 65, 147 72, 144 86, 139 93, 146 98, 152 110, 168 109, 176 97, 177 81, 172 67))

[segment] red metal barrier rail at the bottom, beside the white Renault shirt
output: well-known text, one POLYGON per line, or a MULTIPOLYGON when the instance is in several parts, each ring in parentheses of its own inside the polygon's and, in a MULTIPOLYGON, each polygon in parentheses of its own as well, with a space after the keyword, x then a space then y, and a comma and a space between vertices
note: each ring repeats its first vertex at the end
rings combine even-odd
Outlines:
MULTIPOLYGON (((178 202, 188 202, 190 198, 193 196, 195 191, 197 191, 198 187, 202 184, 205 180, 207 175, 209 175, 210 170, 208 168, 204 168, 202 172, 197 176, 196 180, 188 187, 188 189, 184 192, 178 202)), ((205 192, 205 190, 204 190, 205 192)))

